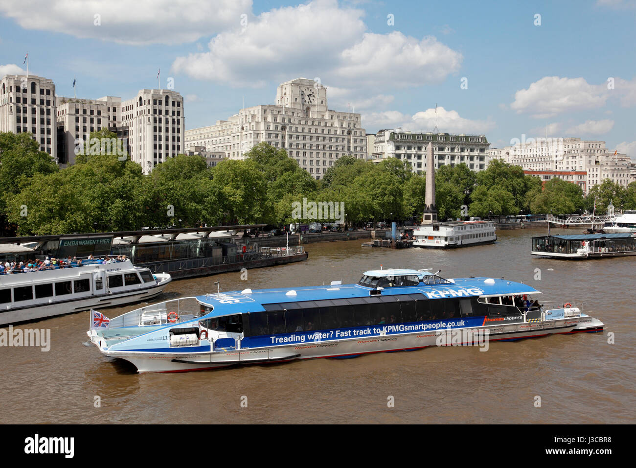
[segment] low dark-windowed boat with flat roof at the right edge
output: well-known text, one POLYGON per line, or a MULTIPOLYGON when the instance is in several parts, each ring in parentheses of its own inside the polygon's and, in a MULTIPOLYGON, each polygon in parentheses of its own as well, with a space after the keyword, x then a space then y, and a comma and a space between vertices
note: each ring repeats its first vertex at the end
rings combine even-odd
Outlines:
POLYGON ((636 235, 565 234, 532 238, 532 255, 554 259, 596 259, 636 255, 636 235))

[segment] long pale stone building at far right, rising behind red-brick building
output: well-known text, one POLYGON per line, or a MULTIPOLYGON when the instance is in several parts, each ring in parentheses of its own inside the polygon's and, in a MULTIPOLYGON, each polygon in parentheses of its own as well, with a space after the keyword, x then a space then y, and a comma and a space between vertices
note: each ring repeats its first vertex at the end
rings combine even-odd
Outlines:
POLYGON ((606 178, 626 187, 632 160, 608 150, 605 141, 581 138, 529 138, 516 145, 488 150, 490 158, 502 159, 526 171, 585 171, 587 195, 606 178))

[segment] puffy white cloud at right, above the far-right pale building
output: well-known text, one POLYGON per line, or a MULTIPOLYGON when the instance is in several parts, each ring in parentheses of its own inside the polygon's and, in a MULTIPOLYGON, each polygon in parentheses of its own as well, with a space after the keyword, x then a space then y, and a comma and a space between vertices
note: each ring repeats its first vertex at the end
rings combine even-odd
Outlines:
POLYGON ((554 117, 563 112, 593 109, 605 105, 607 87, 590 85, 584 78, 545 76, 528 89, 515 93, 510 108, 532 117, 554 117))

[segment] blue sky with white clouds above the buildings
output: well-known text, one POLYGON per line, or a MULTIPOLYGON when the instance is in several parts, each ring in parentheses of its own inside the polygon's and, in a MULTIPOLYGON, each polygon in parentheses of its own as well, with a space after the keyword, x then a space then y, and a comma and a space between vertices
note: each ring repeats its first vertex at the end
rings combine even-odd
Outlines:
POLYGON ((320 80, 367 133, 599 139, 636 159, 636 0, 21 0, 0 4, 0 76, 58 96, 174 86, 186 129, 320 80), (170 86, 169 86, 170 85, 170 86), (435 108, 437 106, 437 118, 435 108), (524 137, 525 136, 525 137, 524 137))

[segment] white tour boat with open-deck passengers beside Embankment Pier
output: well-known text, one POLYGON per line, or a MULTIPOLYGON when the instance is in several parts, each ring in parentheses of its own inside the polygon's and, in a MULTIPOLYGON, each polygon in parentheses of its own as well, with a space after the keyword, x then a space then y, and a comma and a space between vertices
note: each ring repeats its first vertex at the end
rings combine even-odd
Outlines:
POLYGON ((171 280, 169 274, 153 275, 130 260, 0 274, 0 325, 149 301, 171 280))

